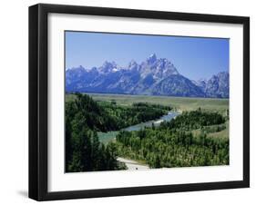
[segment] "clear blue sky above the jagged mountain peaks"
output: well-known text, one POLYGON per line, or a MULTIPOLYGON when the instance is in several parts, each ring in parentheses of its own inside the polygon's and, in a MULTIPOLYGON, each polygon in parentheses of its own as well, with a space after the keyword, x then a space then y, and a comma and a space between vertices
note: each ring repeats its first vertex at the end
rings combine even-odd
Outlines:
POLYGON ((66 32, 66 68, 100 66, 115 61, 127 66, 150 54, 168 58, 179 73, 191 80, 229 71, 229 39, 143 34, 66 32))

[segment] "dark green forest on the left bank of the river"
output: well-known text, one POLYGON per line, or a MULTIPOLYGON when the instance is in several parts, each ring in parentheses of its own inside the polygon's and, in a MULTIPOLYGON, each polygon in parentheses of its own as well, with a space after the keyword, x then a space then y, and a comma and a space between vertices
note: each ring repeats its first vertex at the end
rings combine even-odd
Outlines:
POLYGON ((118 131, 127 126, 159 118, 169 106, 134 103, 95 102, 87 94, 76 94, 66 102, 66 171, 123 170, 117 161, 117 145, 98 141, 97 132, 118 131))

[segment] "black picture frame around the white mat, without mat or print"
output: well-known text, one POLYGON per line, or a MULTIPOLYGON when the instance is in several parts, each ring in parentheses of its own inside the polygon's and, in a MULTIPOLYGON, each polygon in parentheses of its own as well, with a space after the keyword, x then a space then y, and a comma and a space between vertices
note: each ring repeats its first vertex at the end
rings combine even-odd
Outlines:
POLYGON ((29 7, 29 198, 67 200, 250 187, 250 18, 76 5, 29 7), (101 190, 47 190, 47 16, 50 13, 166 19, 243 25, 243 180, 101 190))

